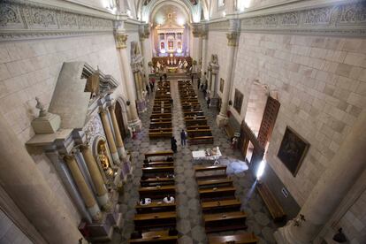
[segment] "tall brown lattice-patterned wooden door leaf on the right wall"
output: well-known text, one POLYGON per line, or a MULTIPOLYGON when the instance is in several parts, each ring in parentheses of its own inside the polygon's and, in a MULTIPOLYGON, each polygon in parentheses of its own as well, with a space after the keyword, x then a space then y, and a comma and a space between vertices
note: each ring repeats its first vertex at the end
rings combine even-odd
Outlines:
POLYGON ((279 110, 278 100, 268 96, 265 104, 261 127, 259 128, 258 141, 265 148, 267 141, 270 141, 273 127, 276 123, 276 118, 279 110))

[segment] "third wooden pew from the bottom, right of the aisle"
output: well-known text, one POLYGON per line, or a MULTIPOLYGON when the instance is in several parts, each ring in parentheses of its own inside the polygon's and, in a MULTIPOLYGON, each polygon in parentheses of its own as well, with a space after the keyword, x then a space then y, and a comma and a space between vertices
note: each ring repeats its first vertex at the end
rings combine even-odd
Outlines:
POLYGON ((237 199, 202 202, 203 213, 217 213, 224 211, 240 211, 241 202, 237 199))

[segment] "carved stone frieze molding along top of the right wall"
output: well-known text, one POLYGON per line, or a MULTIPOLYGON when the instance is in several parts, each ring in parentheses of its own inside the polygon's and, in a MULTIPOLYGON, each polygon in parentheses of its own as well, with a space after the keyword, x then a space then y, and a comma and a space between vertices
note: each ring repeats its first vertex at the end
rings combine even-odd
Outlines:
POLYGON ((366 3, 355 2, 241 19, 242 32, 366 36, 366 3))

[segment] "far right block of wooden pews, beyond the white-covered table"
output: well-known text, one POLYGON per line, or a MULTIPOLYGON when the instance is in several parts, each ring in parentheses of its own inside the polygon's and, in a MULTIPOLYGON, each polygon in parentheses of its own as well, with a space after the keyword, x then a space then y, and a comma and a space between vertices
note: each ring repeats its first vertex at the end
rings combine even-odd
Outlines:
POLYGON ((213 143, 214 138, 210 126, 208 126, 207 118, 204 116, 200 103, 198 103, 191 81, 179 80, 178 88, 186 122, 188 142, 190 144, 213 143))

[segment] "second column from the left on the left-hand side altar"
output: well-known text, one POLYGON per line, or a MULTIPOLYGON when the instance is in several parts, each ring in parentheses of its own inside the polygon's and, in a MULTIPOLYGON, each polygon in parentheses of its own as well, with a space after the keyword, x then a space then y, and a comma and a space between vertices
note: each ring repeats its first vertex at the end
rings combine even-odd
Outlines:
POLYGON ((106 187, 104 186, 101 172, 99 171, 91 149, 88 147, 88 145, 81 145, 80 151, 82 153, 82 156, 84 157, 85 163, 88 166, 88 172, 90 173, 90 177, 93 180, 96 191, 96 199, 99 205, 103 207, 103 210, 110 210, 111 202, 109 199, 109 195, 106 187))

